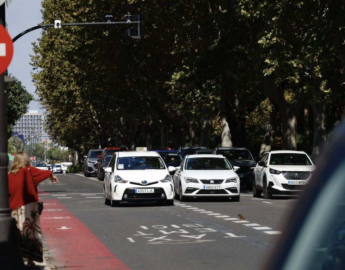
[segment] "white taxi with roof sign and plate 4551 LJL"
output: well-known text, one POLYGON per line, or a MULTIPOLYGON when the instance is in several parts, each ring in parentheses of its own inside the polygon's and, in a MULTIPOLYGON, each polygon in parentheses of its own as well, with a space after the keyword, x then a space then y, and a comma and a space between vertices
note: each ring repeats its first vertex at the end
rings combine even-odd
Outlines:
POLYGON ((112 207, 121 201, 157 201, 174 205, 174 186, 164 161, 157 152, 137 147, 116 152, 104 177, 104 203, 112 207))

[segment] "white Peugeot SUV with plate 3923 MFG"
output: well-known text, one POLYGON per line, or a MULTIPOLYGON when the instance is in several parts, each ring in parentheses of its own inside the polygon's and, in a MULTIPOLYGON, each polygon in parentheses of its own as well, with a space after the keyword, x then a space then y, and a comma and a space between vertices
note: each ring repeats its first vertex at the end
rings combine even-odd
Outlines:
POLYGON ((253 172, 253 197, 300 192, 316 169, 303 151, 265 152, 253 172))

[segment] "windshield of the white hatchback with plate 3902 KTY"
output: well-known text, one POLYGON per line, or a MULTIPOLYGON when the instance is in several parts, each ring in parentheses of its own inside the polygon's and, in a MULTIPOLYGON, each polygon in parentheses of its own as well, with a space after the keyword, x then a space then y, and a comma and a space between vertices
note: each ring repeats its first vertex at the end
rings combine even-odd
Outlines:
POLYGON ((224 158, 188 158, 186 170, 231 170, 229 162, 224 158))

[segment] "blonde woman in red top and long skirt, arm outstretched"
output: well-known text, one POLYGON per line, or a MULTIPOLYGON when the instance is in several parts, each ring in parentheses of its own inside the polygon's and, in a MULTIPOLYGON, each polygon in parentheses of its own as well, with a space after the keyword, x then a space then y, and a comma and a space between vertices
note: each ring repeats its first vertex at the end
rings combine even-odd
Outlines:
POLYGON ((23 152, 16 154, 8 174, 12 217, 16 219, 20 231, 22 255, 28 258, 27 266, 33 269, 39 269, 34 260, 43 261, 37 185, 49 177, 52 182, 59 182, 51 171, 30 166, 30 159, 23 152))

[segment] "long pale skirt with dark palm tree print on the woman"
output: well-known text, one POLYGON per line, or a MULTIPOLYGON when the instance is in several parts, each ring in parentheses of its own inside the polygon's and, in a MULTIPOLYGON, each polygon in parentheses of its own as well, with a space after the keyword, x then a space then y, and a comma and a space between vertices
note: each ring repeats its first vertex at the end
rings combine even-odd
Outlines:
POLYGON ((37 202, 31 202, 12 211, 20 231, 22 256, 37 262, 43 261, 42 234, 37 202))

